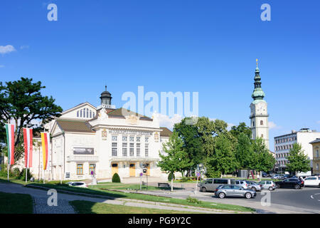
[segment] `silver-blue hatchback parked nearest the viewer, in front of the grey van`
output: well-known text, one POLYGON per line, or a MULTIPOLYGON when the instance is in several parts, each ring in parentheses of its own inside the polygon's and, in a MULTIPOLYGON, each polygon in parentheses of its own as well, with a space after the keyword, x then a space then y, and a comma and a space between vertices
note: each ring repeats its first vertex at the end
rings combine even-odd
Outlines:
POLYGON ((250 199, 251 197, 256 197, 257 192, 253 190, 245 190, 239 185, 223 185, 217 187, 215 190, 215 197, 223 199, 224 197, 245 197, 250 199))

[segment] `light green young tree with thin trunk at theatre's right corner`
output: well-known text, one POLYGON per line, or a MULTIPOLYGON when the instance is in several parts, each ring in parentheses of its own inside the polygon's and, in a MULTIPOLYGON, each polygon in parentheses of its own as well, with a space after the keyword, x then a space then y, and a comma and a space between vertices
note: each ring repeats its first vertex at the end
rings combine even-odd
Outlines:
MULTIPOLYGON (((174 133, 170 136, 168 142, 164 142, 164 155, 159 152, 161 160, 158 162, 158 166, 161 170, 174 175, 174 172, 181 172, 181 174, 192 165, 192 162, 188 158, 188 154, 183 150, 183 140, 178 136, 178 133, 174 133)), ((171 191, 174 190, 174 178, 171 178, 171 191)))

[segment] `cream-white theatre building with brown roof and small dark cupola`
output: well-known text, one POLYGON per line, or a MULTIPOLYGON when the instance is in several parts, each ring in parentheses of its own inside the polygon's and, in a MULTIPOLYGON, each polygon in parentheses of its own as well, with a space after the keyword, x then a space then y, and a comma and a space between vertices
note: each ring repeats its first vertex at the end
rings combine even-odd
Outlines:
MULTIPOLYGON (((144 166, 150 178, 166 179, 156 164, 171 131, 160 128, 156 117, 115 108, 107 87, 100 99, 98 107, 81 103, 46 126, 52 138, 46 179, 84 180, 93 173, 110 180, 117 172, 123 181, 138 178, 144 166)), ((37 175, 38 165, 33 169, 37 175)))

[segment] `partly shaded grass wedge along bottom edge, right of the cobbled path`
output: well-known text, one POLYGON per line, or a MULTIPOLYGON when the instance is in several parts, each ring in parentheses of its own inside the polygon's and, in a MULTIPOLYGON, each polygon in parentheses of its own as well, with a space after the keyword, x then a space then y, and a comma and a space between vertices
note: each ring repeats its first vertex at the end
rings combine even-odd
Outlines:
POLYGON ((89 202, 83 200, 74 200, 69 203, 73 206, 75 212, 78 214, 194 214, 194 212, 129 207, 124 205, 105 204, 102 202, 89 202))

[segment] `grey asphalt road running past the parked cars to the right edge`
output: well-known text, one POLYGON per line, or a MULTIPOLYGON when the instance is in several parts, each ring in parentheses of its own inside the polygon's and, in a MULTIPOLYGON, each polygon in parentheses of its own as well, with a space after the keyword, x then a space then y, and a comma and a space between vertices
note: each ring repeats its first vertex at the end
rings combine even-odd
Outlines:
MULTIPOLYGON (((181 187, 181 184, 175 184, 175 187, 181 187)), ((270 193, 270 206, 261 203, 264 192, 257 192, 257 197, 245 199, 242 197, 227 197, 220 199, 214 196, 213 192, 196 192, 196 184, 186 184, 185 190, 176 190, 175 192, 157 191, 152 194, 167 197, 177 197, 185 199, 186 197, 196 197, 203 201, 220 202, 225 204, 237 204, 244 207, 252 207, 266 213, 319 213, 320 214, 320 188, 303 187, 301 190, 294 189, 276 189, 274 191, 265 190, 270 193)), ((197 188, 199 190, 199 188, 197 188)))

